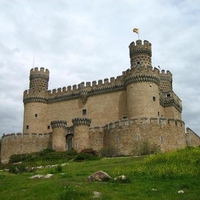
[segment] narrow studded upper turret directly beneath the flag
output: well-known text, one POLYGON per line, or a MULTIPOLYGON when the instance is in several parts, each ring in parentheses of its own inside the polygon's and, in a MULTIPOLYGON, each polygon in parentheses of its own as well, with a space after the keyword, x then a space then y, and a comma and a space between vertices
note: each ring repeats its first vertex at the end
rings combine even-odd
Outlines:
POLYGON ((139 66, 151 66, 151 43, 147 40, 137 40, 129 45, 131 68, 139 66))

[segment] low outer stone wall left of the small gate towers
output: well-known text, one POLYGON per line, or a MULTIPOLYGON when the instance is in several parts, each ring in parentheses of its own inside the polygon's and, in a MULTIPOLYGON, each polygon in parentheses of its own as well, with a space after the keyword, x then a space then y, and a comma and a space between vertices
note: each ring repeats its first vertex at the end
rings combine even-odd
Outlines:
POLYGON ((14 154, 38 152, 51 147, 51 134, 8 134, 1 140, 1 162, 8 163, 14 154))

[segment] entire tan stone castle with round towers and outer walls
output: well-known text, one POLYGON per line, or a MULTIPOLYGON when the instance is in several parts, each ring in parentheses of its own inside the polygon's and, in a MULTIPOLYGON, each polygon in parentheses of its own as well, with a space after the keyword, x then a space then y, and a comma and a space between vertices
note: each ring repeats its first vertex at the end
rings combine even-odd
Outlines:
POLYGON ((48 90, 49 70, 30 70, 24 92, 23 134, 1 139, 1 162, 10 155, 85 148, 117 149, 130 155, 143 141, 161 151, 199 145, 182 121, 182 102, 172 88, 172 74, 153 68, 151 43, 129 45, 130 68, 116 78, 48 90))

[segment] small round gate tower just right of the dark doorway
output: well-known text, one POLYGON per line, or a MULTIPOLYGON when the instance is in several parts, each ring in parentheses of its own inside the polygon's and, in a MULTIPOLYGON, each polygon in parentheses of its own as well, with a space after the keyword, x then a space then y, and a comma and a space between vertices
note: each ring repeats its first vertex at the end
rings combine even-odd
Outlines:
POLYGON ((72 119, 74 127, 74 149, 80 152, 83 149, 90 148, 89 144, 89 127, 91 119, 75 118, 72 119))

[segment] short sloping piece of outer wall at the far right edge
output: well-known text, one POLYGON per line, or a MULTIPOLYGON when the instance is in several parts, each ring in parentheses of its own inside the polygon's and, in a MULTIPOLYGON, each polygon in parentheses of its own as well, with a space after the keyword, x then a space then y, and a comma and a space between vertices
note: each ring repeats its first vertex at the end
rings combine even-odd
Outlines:
POLYGON ((193 147, 200 145, 200 137, 190 128, 186 128, 186 143, 193 147))

